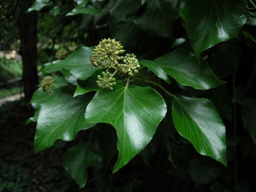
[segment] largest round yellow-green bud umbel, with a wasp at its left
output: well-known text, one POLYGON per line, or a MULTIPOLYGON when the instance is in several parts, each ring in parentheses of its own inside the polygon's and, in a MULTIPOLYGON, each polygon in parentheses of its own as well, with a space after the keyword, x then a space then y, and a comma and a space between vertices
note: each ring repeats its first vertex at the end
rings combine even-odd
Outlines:
POLYGON ((123 50, 123 46, 119 43, 119 41, 115 41, 115 39, 102 39, 97 46, 95 46, 94 59, 98 64, 100 64, 103 68, 106 66, 115 66, 118 65, 118 62, 121 58, 118 56, 119 54, 123 54, 125 50, 123 50))

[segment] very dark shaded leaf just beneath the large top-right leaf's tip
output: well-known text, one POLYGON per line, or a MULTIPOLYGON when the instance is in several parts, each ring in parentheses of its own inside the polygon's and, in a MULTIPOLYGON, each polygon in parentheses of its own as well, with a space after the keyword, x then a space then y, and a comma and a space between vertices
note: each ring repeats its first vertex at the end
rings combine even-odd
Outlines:
MULTIPOLYGON (((217 45, 218 46, 218 45, 217 45)), ((218 78, 224 78, 238 69, 240 62, 240 51, 236 47, 228 48, 221 52, 216 52, 210 61, 212 71, 218 78)))

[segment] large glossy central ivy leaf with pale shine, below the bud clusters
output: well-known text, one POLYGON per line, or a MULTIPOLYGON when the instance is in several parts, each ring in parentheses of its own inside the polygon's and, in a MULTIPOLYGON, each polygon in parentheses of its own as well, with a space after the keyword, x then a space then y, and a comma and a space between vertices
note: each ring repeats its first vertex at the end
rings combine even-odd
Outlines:
POLYGON ((105 122, 117 131, 118 160, 113 173, 125 166, 150 142, 166 115, 166 104, 150 87, 122 87, 113 91, 100 89, 88 104, 88 123, 105 122))

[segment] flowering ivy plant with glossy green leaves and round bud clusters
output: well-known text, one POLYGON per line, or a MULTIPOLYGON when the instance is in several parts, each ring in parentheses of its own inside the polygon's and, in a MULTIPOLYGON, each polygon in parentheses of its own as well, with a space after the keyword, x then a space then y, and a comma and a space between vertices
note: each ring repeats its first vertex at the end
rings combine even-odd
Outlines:
MULTIPOLYGON (((252 1, 248 3, 255 7, 252 1)), ((28 120, 37 121, 35 152, 50 148, 58 139, 74 140, 80 130, 91 130, 88 140, 63 155, 66 171, 84 187, 86 168, 101 162, 100 150, 95 147, 100 138, 93 130, 100 130, 105 123, 113 126, 117 135, 118 158, 113 173, 138 155, 157 130, 168 132, 168 140, 174 141, 177 130, 199 154, 227 166, 222 118, 230 121, 232 108, 226 86, 229 79, 225 77, 238 69, 239 61, 230 62, 226 57, 239 60, 232 40, 248 38, 255 42, 254 34, 242 28, 255 26, 255 14, 248 11, 248 3, 77 1, 66 15, 84 14, 98 28, 105 27, 99 21, 107 18, 105 23, 113 38, 97 36, 99 43, 93 47, 80 44, 68 56, 62 50, 63 57, 61 52, 57 54, 61 59, 47 64, 45 73, 60 70, 64 78, 45 77, 30 101, 36 109, 28 120), (172 23, 177 26, 172 27, 172 23), (183 36, 175 39, 174 28, 182 28, 183 36), (170 46, 163 50, 158 42, 140 41, 143 33, 150 38, 161 37, 170 46)), ((51 4, 36 1, 28 11, 51 4)), ((255 102, 249 100, 241 117, 255 143, 254 114, 255 102)), ((172 160, 171 155, 168 159, 172 160)), ((193 160, 193 164, 196 162, 193 160)), ((192 172, 196 172, 194 169, 192 172)))

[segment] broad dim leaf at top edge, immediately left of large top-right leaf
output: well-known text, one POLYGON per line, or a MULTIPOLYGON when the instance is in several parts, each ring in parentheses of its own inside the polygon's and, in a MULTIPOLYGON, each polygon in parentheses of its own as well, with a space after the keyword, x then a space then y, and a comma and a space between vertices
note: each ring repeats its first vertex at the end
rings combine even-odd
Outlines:
POLYGON ((146 32, 174 39, 172 21, 179 17, 176 3, 177 0, 148 0, 144 12, 134 23, 146 32))

